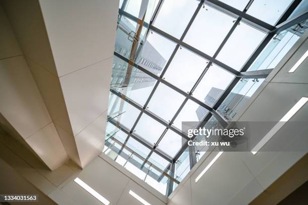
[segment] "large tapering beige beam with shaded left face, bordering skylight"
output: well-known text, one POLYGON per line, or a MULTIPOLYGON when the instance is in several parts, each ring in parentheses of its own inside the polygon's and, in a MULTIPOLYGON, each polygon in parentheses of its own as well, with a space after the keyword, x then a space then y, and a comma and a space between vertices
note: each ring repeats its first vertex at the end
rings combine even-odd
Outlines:
POLYGON ((119 1, 1 0, 70 159, 104 147, 119 1))

